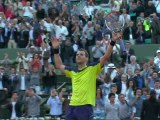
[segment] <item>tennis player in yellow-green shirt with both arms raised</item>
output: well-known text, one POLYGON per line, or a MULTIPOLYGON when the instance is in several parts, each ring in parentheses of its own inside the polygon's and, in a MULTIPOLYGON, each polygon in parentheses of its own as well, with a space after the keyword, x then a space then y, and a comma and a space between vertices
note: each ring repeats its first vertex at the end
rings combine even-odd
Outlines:
POLYGON ((63 65, 59 55, 61 41, 52 38, 54 49, 54 62, 57 69, 60 69, 66 77, 71 78, 72 96, 66 113, 66 120, 93 120, 92 107, 95 106, 96 98, 96 78, 102 71, 103 66, 109 59, 113 46, 121 36, 121 33, 113 34, 112 40, 106 53, 100 58, 99 62, 88 63, 88 53, 84 49, 78 50, 76 54, 77 68, 66 67, 63 65))

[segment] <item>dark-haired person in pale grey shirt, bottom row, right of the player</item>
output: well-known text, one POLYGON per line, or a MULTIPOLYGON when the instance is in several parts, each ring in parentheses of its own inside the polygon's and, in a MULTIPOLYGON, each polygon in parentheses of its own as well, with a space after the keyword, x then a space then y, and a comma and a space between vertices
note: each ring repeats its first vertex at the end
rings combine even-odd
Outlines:
POLYGON ((115 102, 115 94, 110 93, 108 95, 109 102, 106 104, 106 120, 120 120, 119 105, 115 102))

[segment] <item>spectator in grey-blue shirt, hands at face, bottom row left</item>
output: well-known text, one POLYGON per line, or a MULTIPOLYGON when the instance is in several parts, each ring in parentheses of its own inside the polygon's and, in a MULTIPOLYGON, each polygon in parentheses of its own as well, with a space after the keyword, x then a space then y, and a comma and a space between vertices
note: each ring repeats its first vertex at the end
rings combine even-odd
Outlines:
POLYGON ((25 104, 27 108, 28 117, 39 117, 40 116, 40 102, 42 98, 36 94, 34 88, 29 88, 26 91, 25 104))

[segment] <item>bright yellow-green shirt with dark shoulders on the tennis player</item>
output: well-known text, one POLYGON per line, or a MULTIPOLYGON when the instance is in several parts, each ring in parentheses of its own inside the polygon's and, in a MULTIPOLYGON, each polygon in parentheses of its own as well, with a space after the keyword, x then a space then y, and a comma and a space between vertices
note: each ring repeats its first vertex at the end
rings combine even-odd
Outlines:
POLYGON ((67 77, 72 81, 71 106, 90 104, 95 106, 96 78, 102 71, 100 63, 93 63, 82 70, 65 68, 67 77))

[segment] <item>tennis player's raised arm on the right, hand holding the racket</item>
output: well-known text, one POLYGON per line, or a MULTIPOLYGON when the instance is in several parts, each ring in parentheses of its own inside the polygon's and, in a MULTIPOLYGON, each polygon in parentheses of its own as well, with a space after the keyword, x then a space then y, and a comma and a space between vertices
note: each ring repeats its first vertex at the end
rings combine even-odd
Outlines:
POLYGON ((114 34, 112 33, 112 40, 110 42, 110 44, 107 47, 107 51, 105 52, 104 56, 100 59, 100 64, 101 66, 104 66, 106 64, 106 62, 108 61, 108 59, 110 58, 110 55, 112 53, 113 47, 116 43, 116 40, 119 40, 119 38, 122 36, 121 33, 117 33, 114 34))

